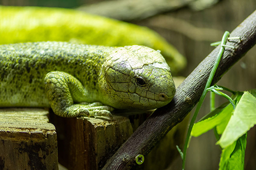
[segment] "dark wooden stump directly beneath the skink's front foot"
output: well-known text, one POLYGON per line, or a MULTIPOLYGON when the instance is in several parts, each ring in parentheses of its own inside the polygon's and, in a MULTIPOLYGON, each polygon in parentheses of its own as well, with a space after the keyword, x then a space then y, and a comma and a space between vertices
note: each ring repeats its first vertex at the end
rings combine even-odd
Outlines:
POLYGON ((106 160, 133 133, 127 117, 63 118, 53 116, 59 148, 59 162, 69 170, 101 169, 106 160))

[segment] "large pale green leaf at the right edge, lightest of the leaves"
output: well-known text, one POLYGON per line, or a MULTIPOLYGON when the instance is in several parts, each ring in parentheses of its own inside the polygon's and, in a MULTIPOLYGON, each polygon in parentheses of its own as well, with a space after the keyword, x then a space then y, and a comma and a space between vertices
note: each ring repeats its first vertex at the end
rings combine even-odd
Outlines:
POLYGON ((252 128, 256 124, 255 108, 256 98, 245 92, 217 144, 222 148, 228 147, 252 128))

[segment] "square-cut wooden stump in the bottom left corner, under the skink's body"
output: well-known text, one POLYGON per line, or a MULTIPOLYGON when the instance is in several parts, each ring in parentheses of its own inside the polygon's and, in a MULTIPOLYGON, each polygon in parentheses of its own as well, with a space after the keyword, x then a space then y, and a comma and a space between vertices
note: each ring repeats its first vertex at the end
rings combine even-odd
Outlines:
POLYGON ((0 109, 0 169, 58 169, 57 135, 48 111, 0 109))

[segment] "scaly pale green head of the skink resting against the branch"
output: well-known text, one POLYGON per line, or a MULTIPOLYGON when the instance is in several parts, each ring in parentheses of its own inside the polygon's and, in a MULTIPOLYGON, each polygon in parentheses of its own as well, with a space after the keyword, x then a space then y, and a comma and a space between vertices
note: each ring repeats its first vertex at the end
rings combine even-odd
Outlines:
POLYGON ((146 46, 118 48, 105 68, 105 94, 114 108, 155 109, 175 95, 170 67, 158 51, 146 46))

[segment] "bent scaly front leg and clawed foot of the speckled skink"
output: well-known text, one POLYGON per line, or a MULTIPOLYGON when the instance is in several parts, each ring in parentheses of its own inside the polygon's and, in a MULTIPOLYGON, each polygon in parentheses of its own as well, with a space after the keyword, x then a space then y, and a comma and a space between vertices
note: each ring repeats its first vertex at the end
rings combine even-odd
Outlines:
POLYGON ((51 71, 44 78, 49 104, 55 114, 61 117, 98 117, 112 118, 112 107, 81 103, 86 99, 86 90, 82 83, 71 74, 63 71, 51 71))

